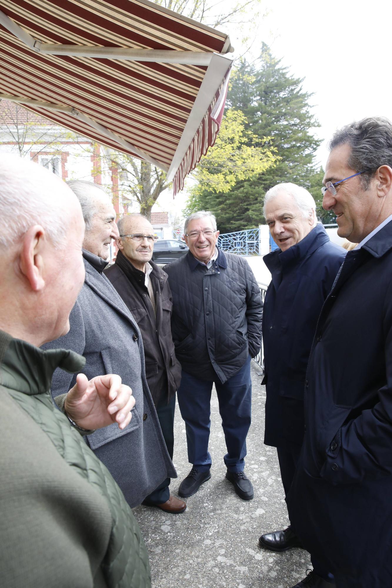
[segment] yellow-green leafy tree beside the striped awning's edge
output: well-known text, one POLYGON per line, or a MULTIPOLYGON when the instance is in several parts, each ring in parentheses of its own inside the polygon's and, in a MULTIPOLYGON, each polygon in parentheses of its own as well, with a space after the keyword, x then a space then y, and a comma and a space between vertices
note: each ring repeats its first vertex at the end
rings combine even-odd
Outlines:
POLYGON ((241 111, 229 109, 222 121, 214 147, 199 163, 185 213, 205 209, 217 216, 221 232, 248 228, 260 220, 261 198, 248 198, 252 178, 279 161, 276 149, 245 128, 241 111), (235 186, 235 192, 233 188, 235 186))

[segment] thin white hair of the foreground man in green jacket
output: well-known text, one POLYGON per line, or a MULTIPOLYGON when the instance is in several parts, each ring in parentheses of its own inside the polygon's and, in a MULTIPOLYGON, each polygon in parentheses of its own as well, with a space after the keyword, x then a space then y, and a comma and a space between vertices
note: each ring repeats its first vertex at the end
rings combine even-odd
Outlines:
MULTIPOLYGON (((73 198, 69 192, 69 198, 73 198)), ((65 246, 69 198, 62 179, 16 155, 0 158, 0 246, 7 247, 41 225, 55 249, 65 246)))

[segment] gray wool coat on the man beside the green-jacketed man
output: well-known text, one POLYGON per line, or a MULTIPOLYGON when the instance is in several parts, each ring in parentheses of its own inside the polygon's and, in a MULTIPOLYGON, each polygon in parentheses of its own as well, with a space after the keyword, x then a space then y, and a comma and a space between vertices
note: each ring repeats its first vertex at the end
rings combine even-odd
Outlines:
MULTIPOLYGON (((145 377, 141 335, 121 297, 105 275, 84 259, 86 278, 69 316, 69 333, 44 349, 72 349, 86 358, 91 379, 117 373, 132 388, 136 403, 124 430, 117 423, 87 436, 87 443, 107 466, 129 506, 137 506, 167 477, 177 477, 145 377)), ((76 375, 55 370, 52 395, 68 392, 76 375)))

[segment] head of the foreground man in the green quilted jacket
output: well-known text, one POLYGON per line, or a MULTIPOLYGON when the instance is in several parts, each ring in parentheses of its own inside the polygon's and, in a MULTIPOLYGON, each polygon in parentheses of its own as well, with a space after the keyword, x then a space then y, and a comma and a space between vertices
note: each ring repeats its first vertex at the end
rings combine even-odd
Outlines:
POLYGON ((74 193, 54 173, 0 159, 0 329, 33 345, 69 330, 84 282, 84 222, 74 193))

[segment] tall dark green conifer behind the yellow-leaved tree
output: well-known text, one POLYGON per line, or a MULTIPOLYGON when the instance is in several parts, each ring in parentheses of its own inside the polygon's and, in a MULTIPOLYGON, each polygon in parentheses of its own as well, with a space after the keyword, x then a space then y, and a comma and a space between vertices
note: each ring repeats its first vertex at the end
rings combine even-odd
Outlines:
MULTIPOLYGON (((244 113, 245 131, 258 138, 253 144, 276 149, 280 160, 253 179, 238 179, 230 191, 215 196, 216 205, 208 198, 210 209, 216 213, 222 196, 230 203, 230 209, 238 200, 242 212, 230 223, 224 222, 230 230, 264 223, 264 194, 277 183, 294 182, 310 189, 314 182, 315 189, 318 176, 314 178, 314 153, 321 141, 312 130, 319 124, 311 113, 311 94, 303 91, 302 82, 303 79, 290 76, 288 68, 281 66, 264 43, 257 62, 248 64, 242 59, 232 73, 228 105, 244 113)), ((199 202, 207 204, 200 197, 199 202)))

